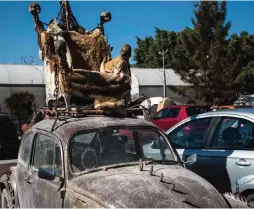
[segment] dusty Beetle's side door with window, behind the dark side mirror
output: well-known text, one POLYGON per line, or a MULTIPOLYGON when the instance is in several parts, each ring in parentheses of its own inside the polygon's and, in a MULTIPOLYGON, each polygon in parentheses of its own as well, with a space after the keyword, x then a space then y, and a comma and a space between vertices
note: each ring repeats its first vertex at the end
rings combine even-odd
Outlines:
POLYGON ((36 134, 31 161, 30 184, 33 189, 31 198, 35 200, 35 208, 61 208, 63 206, 64 170, 63 153, 60 141, 47 132, 36 134), (40 168, 55 172, 54 180, 38 177, 40 168))

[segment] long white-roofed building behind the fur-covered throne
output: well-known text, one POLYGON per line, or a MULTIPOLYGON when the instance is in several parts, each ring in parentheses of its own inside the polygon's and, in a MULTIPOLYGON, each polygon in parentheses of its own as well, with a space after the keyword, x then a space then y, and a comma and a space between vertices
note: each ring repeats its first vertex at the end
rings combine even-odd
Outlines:
MULTIPOLYGON (((132 68, 132 96, 163 96, 162 69, 132 68)), ((185 103, 190 97, 183 97, 172 90, 175 87, 188 87, 172 69, 166 70, 167 97, 185 103)), ((37 105, 45 105, 45 84, 43 66, 33 65, 0 65, 0 105, 1 111, 7 112, 4 100, 12 92, 28 91, 34 94, 37 105)))

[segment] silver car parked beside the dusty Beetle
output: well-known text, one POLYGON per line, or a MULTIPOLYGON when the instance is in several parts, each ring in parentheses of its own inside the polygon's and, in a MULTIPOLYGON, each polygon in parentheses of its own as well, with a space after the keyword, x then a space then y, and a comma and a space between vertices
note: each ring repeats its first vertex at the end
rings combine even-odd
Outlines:
POLYGON ((243 195, 253 207, 253 108, 192 116, 171 127, 166 134, 182 160, 197 155, 197 162, 188 165, 188 169, 208 180, 221 193, 243 195))

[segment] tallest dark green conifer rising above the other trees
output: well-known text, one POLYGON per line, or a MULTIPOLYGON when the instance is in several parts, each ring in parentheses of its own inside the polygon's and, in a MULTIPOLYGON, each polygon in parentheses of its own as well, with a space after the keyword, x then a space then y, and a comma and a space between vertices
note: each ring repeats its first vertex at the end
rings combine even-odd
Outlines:
POLYGON ((225 94, 234 67, 228 62, 226 47, 231 22, 225 22, 225 1, 201 1, 195 8, 195 19, 191 18, 194 28, 186 28, 178 37, 172 66, 193 86, 198 98, 212 104, 232 96, 225 94))

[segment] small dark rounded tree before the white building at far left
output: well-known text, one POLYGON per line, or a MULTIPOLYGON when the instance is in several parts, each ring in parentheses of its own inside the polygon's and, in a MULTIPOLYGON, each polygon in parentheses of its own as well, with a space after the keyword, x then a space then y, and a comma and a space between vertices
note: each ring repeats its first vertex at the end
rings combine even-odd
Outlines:
POLYGON ((14 92, 5 101, 10 113, 18 119, 19 126, 27 121, 33 114, 35 97, 33 94, 25 92, 14 92))

